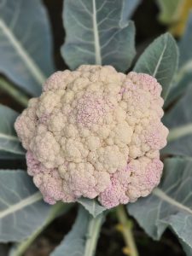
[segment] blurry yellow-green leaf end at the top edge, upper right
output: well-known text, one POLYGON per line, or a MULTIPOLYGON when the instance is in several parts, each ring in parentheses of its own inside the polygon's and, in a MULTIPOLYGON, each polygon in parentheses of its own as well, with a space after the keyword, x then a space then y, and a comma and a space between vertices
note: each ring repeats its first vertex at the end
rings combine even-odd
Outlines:
POLYGON ((183 0, 157 0, 160 6, 159 19, 161 22, 170 24, 177 20, 183 0))

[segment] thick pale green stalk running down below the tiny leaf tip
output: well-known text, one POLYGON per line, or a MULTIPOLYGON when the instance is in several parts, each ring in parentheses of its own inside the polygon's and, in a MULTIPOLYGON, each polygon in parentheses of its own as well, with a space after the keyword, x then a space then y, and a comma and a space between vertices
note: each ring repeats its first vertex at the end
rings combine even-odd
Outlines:
POLYGON ((103 214, 96 218, 90 217, 88 226, 87 240, 84 249, 84 256, 94 256, 96 253, 96 244, 102 227, 103 214))

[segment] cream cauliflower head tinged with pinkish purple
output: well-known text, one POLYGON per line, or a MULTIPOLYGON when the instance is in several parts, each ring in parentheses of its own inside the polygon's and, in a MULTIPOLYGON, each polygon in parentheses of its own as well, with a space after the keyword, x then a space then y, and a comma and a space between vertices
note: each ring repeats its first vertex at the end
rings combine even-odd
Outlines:
POLYGON ((148 74, 110 66, 50 76, 15 122, 44 201, 83 196, 111 208, 148 195, 160 182, 168 134, 160 92, 148 74))

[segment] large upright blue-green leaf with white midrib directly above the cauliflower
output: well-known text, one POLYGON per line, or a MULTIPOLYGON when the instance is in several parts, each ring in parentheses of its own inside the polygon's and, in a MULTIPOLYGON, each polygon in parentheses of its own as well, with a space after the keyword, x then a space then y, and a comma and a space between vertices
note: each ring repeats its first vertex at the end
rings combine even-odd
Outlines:
POLYGON ((135 56, 135 27, 128 21, 132 10, 130 0, 65 0, 67 37, 61 55, 67 65, 72 69, 81 64, 112 65, 127 70, 135 56))

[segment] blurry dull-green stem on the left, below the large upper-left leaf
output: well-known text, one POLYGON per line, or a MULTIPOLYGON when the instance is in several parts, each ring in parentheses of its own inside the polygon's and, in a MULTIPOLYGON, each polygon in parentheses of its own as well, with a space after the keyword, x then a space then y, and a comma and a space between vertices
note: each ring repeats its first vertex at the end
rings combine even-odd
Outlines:
POLYGON ((14 84, 10 84, 6 79, 0 78, 0 89, 12 96, 21 106, 27 106, 28 97, 18 90, 14 84))

